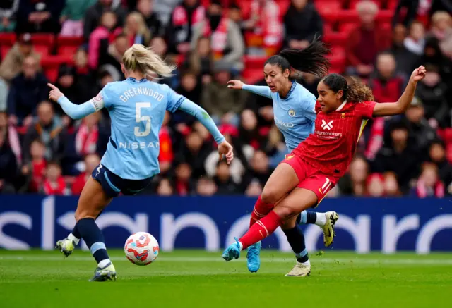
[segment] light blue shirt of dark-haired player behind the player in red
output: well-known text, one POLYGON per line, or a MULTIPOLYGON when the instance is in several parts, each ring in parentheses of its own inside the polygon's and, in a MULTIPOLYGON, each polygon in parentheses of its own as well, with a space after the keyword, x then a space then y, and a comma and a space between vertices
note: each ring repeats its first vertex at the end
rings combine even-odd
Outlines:
POLYGON ((271 92, 267 86, 243 85, 242 89, 273 100, 275 124, 283 133, 290 152, 314 133, 316 97, 299 83, 292 82, 285 98, 271 92))

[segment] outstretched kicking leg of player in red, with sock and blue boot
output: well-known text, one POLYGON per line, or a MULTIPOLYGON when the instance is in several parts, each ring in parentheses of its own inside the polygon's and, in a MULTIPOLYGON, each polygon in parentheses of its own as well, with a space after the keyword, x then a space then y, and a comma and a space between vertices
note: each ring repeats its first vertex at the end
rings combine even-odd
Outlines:
POLYGON ((242 250, 273 234, 285 221, 297 217, 317 202, 317 195, 311 190, 295 188, 270 213, 254 223, 240 240, 236 239, 234 244, 227 247, 222 254, 223 259, 226 261, 238 259, 242 250))

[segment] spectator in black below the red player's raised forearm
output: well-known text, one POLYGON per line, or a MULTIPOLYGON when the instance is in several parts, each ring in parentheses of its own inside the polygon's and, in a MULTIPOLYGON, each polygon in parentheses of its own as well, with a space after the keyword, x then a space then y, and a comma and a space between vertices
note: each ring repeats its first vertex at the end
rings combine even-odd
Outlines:
POLYGON ((388 140, 376 154, 373 170, 379 173, 393 171, 398 175, 400 189, 408 192, 410 181, 417 176, 418 166, 423 160, 420 147, 409 138, 408 125, 393 122, 389 128, 388 140))

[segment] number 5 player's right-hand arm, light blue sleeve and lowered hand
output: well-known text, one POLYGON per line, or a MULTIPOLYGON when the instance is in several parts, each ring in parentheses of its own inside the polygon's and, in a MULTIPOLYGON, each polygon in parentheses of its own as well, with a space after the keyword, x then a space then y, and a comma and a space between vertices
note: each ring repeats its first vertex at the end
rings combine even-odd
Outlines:
POLYGON ((232 146, 225 140, 225 137, 218 130, 217 125, 213 123, 212 118, 210 118, 209 114, 201 108, 201 106, 196 105, 193 101, 189 99, 184 99, 182 104, 179 106, 179 109, 191 114, 198 119, 212 134, 213 139, 218 144, 218 154, 220 154, 220 159, 225 155, 227 164, 230 164, 232 159, 234 159, 234 152, 232 151, 232 146))

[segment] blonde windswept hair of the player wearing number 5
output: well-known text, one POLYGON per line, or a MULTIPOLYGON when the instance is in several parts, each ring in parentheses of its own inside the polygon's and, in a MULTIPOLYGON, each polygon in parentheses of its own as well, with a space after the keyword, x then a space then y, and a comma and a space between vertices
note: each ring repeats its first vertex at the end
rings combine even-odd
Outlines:
POLYGON ((122 56, 126 70, 138 70, 145 75, 157 73, 163 77, 171 77, 176 66, 170 66, 155 54, 152 49, 141 44, 133 44, 122 56))

